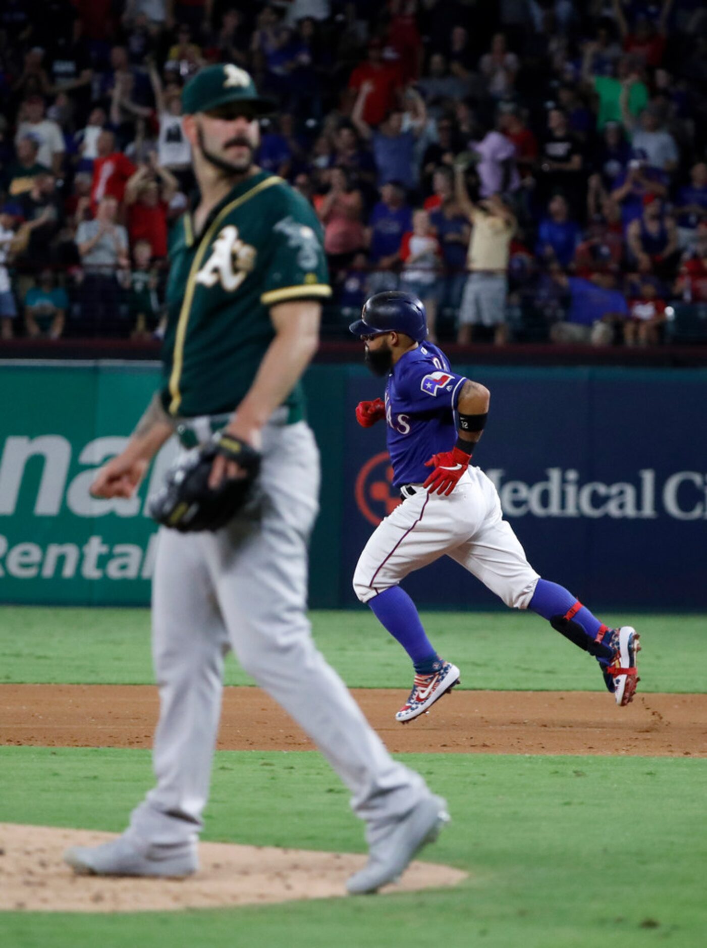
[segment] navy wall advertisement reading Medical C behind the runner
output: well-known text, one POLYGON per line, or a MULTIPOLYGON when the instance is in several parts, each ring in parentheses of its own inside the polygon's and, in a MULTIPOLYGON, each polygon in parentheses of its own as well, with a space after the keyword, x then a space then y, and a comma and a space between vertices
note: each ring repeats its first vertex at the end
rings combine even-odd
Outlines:
MULTIPOLYGON (((601 605, 707 608, 707 374, 457 371, 491 391, 474 461, 496 483, 504 516, 538 573, 601 605)), ((348 576, 375 524, 400 502, 385 428, 360 428, 354 418, 357 402, 381 390, 370 376, 350 374, 348 576)), ((498 604, 446 557, 407 583, 417 602, 433 608, 498 604)), ((342 599, 354 602, 346 583, 342 599)))

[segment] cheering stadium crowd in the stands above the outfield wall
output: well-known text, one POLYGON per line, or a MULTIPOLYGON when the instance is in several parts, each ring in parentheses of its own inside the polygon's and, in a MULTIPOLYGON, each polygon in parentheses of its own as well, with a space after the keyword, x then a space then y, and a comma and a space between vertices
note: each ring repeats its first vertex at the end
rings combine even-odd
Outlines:
POLYGON ((400 287, 432 337, 655 345, 707 303, 702 0, 4 0, 2 338, 162 332, 214 62, 278 103, 330 327, 400 287))

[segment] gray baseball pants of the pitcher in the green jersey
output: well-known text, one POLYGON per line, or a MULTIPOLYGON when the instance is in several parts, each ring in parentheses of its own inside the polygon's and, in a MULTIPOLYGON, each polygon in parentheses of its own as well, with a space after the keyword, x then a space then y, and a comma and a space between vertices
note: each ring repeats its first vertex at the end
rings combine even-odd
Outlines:
POLYGON ((304 422, 266 426, 261 482, 257 517, 215 534, 160 531, 153 580, 157 784, 131 817, 128 835, 140 846, 189 843, 202 829, 231 648, 317 743, 372 829, 405 815, 426 793, 422 777, 390 757, 311 637, 307 542, 319 464, 304 422))

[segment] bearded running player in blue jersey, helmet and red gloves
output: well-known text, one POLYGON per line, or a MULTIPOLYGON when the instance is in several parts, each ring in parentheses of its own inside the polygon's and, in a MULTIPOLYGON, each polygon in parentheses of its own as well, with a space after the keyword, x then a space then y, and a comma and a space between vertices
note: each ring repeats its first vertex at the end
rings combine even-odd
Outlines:
POLYGON ((354 573, 356 595, 414 666, 412 690, 396 719, 417 718, 460 683, 459 668, 437 654, 398 585, 444 555, 507 606, 537 612, 593 655, 616 703, 628 704, 639 681, 639 635, 630 626, 609 629, 566 589, 535 573, 503 520, 496 487, 471 464, 488 416, 488 390, 453 372, 444 353, 426 342, 425 307, 408 293, 372 296, 350 329, 365 343, 372 372, 386 376, 385 402, 361 402, 356 418, 364 428, 385 421, 392 483, 403 498, 373 533, 354 573))

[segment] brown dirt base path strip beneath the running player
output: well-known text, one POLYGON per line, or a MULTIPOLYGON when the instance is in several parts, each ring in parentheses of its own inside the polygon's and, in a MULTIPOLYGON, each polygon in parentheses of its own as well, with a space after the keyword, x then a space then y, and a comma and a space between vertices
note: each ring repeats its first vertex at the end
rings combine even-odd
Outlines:
MULTIPOLYGON (((454 691, 428 715, 399 724, 406 693, 354 689, 394 753, 601 754, 707 757, 707 695, 579 691, 454 691)), ((0 744, 150 747, 152 685, 1 684, 0 744)), ((311 750, 314 745, 258 688, 229 687, 220 750, 311 750)))

